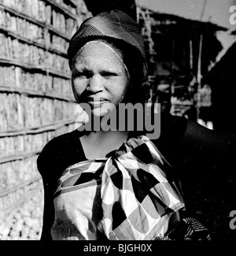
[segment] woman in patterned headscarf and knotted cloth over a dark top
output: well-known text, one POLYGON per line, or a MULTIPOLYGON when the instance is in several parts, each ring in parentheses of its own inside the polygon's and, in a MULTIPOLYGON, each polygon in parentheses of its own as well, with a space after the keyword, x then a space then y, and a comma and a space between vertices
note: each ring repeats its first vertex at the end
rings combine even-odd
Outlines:
POLYGON ((209 239, 207 228, 186 213, 207 214, 201 210, 205 198, 224 199, 219 184, 231 192, 225 181, 233 181, 234 173, 222 179, 217 172, 233 162, 235 139, 164 113, 159 138, 129 129, 131 119, 119 130, 120 104, 145 106, 149 98, 142 35, 126 13, 112 10, 85 20, 68 59, 76 101, 96 128, 83 124, 52 139, 39 155, 42 239, 209 239), (111 113, 117 124, 107 131, 102 127, 111 113), (199 187, 204 196, 197 197, 199 187))

